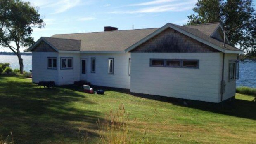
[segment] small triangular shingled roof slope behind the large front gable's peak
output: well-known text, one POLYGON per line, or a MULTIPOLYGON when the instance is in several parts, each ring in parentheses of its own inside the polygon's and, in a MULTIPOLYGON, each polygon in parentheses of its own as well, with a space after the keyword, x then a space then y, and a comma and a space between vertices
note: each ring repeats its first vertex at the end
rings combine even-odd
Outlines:
POLYGON ((206 23, 206 24, 199 24, 199 25, 190 25, 186 27, 197 29, 202 33, 210 36, 219 25, 220 23, 206 23))

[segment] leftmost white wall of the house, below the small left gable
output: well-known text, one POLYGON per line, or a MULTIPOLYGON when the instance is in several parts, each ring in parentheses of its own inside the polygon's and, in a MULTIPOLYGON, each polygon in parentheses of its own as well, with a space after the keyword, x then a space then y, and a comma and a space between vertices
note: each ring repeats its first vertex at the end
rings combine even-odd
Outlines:
POLYGON ((32 81, 55 81, 59 85, 58 69, 47 69, 47 57, 57 57, 57 67, 59 58, 57 52, 32 52, 32 81))

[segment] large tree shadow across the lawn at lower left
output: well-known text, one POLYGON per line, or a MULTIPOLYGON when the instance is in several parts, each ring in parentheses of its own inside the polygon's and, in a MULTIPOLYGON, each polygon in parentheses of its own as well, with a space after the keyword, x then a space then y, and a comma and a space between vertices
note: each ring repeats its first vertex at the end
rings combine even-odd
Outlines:
POLYGON ((85 94, 63 88, 44 89, 22 78, 0 77, 0 135, 10 131, 17 144, 78 142, 85 133, 99 137, 99 113, 74 107, 93 105, 85 94), (12 80, 13 79, 13 80, 12 80), (79 127, 85 128, 79 130, 79 127))

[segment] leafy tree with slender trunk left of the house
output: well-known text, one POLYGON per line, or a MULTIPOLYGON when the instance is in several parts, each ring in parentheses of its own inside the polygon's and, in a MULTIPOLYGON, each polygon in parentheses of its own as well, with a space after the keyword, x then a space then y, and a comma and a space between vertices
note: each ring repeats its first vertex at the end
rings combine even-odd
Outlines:
POLYGON ((20 48, 31 46, 32 28, 42 28, 43 19, 29 2, 0 0, 0 46, 9 48, 19 59, 20 73, 23 74, 23 59, 20 48))

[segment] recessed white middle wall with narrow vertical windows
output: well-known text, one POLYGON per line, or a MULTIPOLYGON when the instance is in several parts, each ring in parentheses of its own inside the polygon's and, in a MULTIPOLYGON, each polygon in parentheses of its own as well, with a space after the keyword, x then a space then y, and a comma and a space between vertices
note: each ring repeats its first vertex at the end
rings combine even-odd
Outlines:
POLYGON ((128 75, 130 53, 81 53, 80 58, 88 60, 87 80, 92 85, 130 89, 130 76, 128 75), (95 73, 91 73, 91 58, 96 58, 95 73), (114 58, 114 74, 108 74, 108 58, 114 58))

